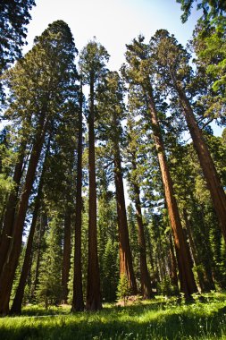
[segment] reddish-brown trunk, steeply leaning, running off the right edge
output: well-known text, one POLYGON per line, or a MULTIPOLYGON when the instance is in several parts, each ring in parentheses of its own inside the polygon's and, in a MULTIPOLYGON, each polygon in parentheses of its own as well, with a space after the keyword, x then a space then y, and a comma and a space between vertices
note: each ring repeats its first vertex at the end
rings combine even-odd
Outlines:
POLYGON ((188 130, 193 140, 194 149, 202 167, 207 187, 210 191, 213 207, 222 228, 224 241, 226 242, 226 195, 222 188, 222 183, 213 164, 213 159, 205 143, 202 131, 197 125, 193 110, 183 89, 176 83, 175 89, 178 92, 181 106, 184 109, 185 118, 188 123, 188 130))

